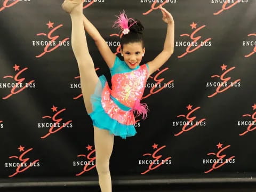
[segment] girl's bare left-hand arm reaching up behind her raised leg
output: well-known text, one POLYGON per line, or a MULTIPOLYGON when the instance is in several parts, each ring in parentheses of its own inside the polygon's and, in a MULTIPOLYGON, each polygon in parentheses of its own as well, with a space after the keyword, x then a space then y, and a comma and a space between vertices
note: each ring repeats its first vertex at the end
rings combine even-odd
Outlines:
POLYGON ((85 16, 83 17, 83 22, 84 29, 94 40, 100 54, 107 63, 108 67, 112 68, 114 66, 116 55, 110 50, 108 44, 106 43, 105 39, 103 39, 103 37, 100 35, 99 31, 85 16))

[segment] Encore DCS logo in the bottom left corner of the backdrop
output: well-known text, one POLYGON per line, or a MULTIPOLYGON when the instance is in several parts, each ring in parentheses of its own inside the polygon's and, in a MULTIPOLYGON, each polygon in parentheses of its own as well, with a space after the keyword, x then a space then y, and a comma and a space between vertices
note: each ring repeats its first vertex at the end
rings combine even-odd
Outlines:
POLYGON ((31 160, 29 156, 31 153, 33 153, 33 148, 25 150, 25 147, 20 146, 19 148, 20 155, 13 155, 10 156, 9 159, 12 159, 12 162, 5 162, 5 168, 10 168, 13 170, 15 169, 15 172, 11 173, 9 177, 14 177, 15 175, 25 172, 28 170, 30 167, 39 167, 40 162, 39 159, 36 160, 31 160))

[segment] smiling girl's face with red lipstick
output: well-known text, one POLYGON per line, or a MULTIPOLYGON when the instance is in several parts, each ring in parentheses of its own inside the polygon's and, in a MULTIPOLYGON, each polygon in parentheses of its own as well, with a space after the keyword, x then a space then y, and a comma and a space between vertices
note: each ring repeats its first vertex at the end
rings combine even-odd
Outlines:
POLYGON ((127 66, 134 69, 140 64, 142 55, 145 53, 145 47, 142 48, 141 42, 127 43, 123 45, 121 53, 127 66))

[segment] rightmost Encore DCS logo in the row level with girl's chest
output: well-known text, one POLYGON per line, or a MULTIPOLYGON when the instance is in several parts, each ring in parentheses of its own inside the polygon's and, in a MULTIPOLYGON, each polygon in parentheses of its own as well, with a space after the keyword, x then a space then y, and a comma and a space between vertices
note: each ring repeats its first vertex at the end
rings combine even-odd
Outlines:
POLYGON ((216 87, 216 91, 211 94, 208 95, 209 98, 214 97, 215 95, 217 95, 218 93, 222 93, 227 91, 228 89, 230 89, 231 87, 241 87, 241 79, 236 79, 233 82, 230 82, 229 80, 231 79, 231 77, 225 77, 230 71, 234 70, 236 67, 231 67, 229 69, 227 69, 227 65, 222 65, 220 66, 221 71, 224 70, 224 72, 221 75, 212 75, 211 77, 217 77, 220 79, 220 81, 218 82, 206 82, 206 87, 216 87))

